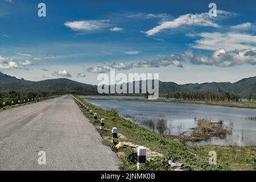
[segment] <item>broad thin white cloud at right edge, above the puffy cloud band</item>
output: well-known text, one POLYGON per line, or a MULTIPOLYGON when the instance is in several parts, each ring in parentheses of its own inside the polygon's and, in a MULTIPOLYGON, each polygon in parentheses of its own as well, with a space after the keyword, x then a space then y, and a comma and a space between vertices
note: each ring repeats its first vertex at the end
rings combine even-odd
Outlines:
POLYGON ((234 49, 247 49, 256 46, 256 36, 237 32, 219 33, 203 32, 200 34, 189 34, 189 36, 200 37, 191 46, 198 49, 216 51, 224 48, 228 51, 234 49))

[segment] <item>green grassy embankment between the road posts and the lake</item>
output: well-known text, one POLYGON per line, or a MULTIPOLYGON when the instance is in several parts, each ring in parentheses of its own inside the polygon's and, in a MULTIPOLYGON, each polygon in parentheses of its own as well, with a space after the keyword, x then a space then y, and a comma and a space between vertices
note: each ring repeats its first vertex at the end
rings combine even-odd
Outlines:
MULTIPOLYGON (((156 157, 154 160, 147 162, 145 170, 170 170, 168 160, 173 162, 184 163, 191 166, 192 170, 250 170, 251 154, 256 151, 256 146, 233 147, 233 146, 187 146, 179 140, 172 140, 164 137, 154 131, 148 130, 143 126, 139 126, 127 119, 120 117, 115 110, 105 110, 76 97, 83 102, 94 113, 98 114, 98 121, 93 122, 93 118, 89 118, 84 109, 81 110, 85 116, 96 126, 97 131, 104 138, 104 144, 109 145, 108 139, 112 137, 112 128, 117 127, 118 133, 125 138, 119 138, 121 142, 132 142, 140 146, 150 148, 152 151, 163 154, 163 157, 156 157), (105 129, 100 130, 100 119, 105 119, 105 129), (209 151, 217 152, 217 165, 209 164, 209 151)), ((114 152, 127 152, 129 147, 123 147, 114 152)), ((127 162, 124 156, 121 156, 123 162, 121 169, 135 170, 136 165, 127 162)))

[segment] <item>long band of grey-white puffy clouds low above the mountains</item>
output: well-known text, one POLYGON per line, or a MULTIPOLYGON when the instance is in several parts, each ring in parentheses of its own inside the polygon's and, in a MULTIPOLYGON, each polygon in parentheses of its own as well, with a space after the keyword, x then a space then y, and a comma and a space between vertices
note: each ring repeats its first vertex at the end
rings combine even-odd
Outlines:
POLYGON ((209 65, 216 67, 233 67, 234 65, 251 64, 256 65, 256 48, 236 49, 228 51, 221 48, 207 55, 195 55, 192 51, 187 51, 180 55, 169 55, 159 60, 143 60, 138 63, 124 64, 114 62, 110 65, 102 65, 98 67, 88 68, 88 72, 106 73, 110 69, 118 71, 133 68, 160 68, 174 65, 175 67, 183 67, 183 63, 191 63, 195 65, 209 65))

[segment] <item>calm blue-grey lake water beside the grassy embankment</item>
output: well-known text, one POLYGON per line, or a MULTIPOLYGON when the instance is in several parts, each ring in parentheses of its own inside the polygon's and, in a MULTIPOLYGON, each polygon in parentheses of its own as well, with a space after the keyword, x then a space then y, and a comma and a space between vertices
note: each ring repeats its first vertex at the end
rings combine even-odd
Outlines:
POLYGON ((210 106, 201 104, 184 104, 174 102, 144 102, 88 100, 104 109, 115 109, 122 116, 129 114, 134 118, 166 118, 171 126, 171 135, 191 133, 196 127, 195 118, 208 118, 212 121, 224 121, 225 126, 232 127, 232 134, 224 139, 212 137, 208 141, 198 142, 198 145, 218 144, 233 146, 248 146, 256 144, 256 121, 246 119, 255 117, 256 109, 236 107, 210 106))

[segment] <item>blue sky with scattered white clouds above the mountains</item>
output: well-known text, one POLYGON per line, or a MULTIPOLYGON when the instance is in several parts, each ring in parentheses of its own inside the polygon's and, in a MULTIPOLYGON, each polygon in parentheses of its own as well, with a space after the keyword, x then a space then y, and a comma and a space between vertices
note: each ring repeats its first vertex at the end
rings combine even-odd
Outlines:
POLYGON ((255 7, 248 0, 0 0, 0 72, 94 85, 110 69, 159 73, 177 84, 236 82, 256 76, 255 7))

